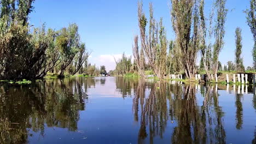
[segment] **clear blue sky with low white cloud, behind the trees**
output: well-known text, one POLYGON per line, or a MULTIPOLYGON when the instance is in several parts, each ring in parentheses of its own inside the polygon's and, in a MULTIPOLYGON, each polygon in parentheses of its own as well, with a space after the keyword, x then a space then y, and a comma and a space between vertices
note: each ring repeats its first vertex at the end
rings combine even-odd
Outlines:
MULTIPOLYGON (((148 15, 149 2, 153 3, 154 16, 164 19, 167 38, 174 39, 170 16, 170 0, 144 0, 144 11, 148 15)), ((212 0, 206 0, 206 13, 212 0)), ((36 0, 30 22, 34 26, 46 23, 47 27, 60 29, 69 23, 77 23, 81 40, 92 51, 90 63, 106 65, 107 70, 114 69, 114 58, 121 53, 132 55, 133 35, 139 34, 137 22, 137 0, 36 0)), ((243 10, 249 7, 249 0, 227 0, 229 9, 226 21, 225 46, 219 60, 223 64, 234 61, 235 28, 242 28, 245 66, 251 66, 253 38, 246 23, 243 10)))

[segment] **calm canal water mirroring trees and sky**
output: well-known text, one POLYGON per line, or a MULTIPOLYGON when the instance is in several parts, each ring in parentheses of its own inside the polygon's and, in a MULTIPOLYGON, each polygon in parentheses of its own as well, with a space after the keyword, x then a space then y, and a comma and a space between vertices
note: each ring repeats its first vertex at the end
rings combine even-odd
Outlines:
POLYGON ((253 92, 123 77, 0 83, 0 143, 256 143, 253 92))

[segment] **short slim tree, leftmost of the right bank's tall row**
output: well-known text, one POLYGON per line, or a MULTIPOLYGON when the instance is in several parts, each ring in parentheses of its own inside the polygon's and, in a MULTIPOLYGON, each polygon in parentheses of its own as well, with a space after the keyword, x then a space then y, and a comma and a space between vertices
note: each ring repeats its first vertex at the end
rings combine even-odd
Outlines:
POLYGON ((135 35, 133 40, 134 40, 134 44, 132 45, 133 58, 138 69, 138 74, 144 77, 144 70, 145 70, 144 51, 143 49, 141 49, 139 52, 138 35, 135 35))

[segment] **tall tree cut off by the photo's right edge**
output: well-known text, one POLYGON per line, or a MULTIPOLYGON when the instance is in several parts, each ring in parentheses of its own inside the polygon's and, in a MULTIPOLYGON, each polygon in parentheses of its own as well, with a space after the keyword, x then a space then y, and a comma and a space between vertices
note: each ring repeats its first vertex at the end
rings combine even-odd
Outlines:
POLYGON ((250 8, 246 10, 247 24, 251 28, 253 34, 254 47, 252 50, 253 67, 256 69, 256 0, 251 0, 250 8))

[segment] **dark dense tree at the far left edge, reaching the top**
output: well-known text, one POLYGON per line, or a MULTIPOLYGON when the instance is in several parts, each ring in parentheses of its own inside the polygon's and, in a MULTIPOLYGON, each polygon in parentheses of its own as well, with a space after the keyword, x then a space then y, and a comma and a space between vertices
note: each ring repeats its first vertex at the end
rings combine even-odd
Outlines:
POLYGON ((0 79, 34 79, 42 70, 48 39, 44 26, 31 32, 32 0, 0 3, 0 79))

